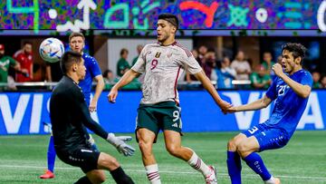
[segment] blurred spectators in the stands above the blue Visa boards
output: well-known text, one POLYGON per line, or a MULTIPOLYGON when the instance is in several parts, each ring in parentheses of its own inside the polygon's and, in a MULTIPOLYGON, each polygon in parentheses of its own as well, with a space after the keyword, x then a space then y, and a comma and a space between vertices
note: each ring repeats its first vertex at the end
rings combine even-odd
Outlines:
MULTIPOLYGON (((143 45, 135 48, 140 54, 143 45)), ((47 63, 44 77, 38 72, 38 65, 34 65, 33 50, 31 43, 24 43, 23 47, 14 55, 5 54, 5 44, 0 44, 0 90, 17 90, 15 82, 58 82, 61 77, 59 63, 47 63)), ((206 45, 201 45, 193 49, 192 53, 205 71, 207 77, 216 82, 217 89, 267 89, 275 77, 272 66, 274 63, 281 63, 282 56, 273 58, 272 53, 264 52, 262 61, 252 61, 247 58, 247 54, 238 51, 234 58, 224 56, 222 59, 216 58, 216 51, 209 49, 206 45)), ((120 59, 117 61, 116 69, 102 71, 106 83, 105 89, 109 90, 120 77, 126 73, 139 56, 130 61, 129 51, 125 48, 120 50, 120 59), (115 70, 114 74, 112 70, 115 70)), ((313 78, 313 88, 326 88, 326 73, 311 71, 313 78)), ((194 75, 186 73, 181 81, 185 82, 189 88, 197 79, 194 75)), ((126 90, 139 90, 141 86, 141 76, 125 86, 126 90)), ((187 89, 187 88, 186 88, 187 89)))

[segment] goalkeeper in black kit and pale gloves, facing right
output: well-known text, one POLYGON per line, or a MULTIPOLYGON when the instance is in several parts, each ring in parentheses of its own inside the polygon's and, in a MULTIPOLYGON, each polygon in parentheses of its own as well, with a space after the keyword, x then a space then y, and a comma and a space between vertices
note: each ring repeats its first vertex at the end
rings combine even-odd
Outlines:
POLYGON ((133 183, 121 169, 120 163, 104 152, 91 148, 86 128, 108 140, 125 156, 131 156, 134 149, 112 134, 104 131, 91 119, 90 111, 78 83, 85 77, 86 68, 81 53, 68 51, 61 61, 62 80, 55 86, 50 100, 50 117, 53 128, 54 148, 60 160, 80 167, 86 174, 75 183, 101 183, 105 180, 102 169, 110 170, 117 183, 133 183))

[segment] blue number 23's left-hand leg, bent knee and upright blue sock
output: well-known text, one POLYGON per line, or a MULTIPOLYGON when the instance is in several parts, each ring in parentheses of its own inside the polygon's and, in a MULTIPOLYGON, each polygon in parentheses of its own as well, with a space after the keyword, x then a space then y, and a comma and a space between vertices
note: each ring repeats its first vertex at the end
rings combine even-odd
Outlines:
POLYGON ((241 184, 241 158, 237 153, 237 145, 246 138, 245 134, 239 133, 227 143, 227 171, 233 184, 241 184))

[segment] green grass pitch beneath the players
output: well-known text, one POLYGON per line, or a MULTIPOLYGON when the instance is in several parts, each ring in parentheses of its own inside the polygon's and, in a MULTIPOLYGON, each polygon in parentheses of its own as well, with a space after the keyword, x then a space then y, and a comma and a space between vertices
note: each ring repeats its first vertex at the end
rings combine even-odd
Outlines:
MULTIPOLYGON (((219 184, 230 183, 226 168, 226 143, 237 132, 186 133, 183 145, 196 150, 206 164, 217 169, 219 184)), ((134 137, 134 135, 132 134, 134 137)), ((116 157, 123 169, 135 183, 149 183, 142 166, 140 152, 135 140, 131 145, 137 148, 136 155, 125 158, 109 143, 93 136, 101 151, 116 157)), ((48 135, 0 136, 0 183, 73 183, 83 173, 81 169, 64 164, 56 159, 54 179, 38 179, 46 167, 48 135)), ((168 155, 162 135, 154 146, 162 183, 179 184, 205 183, 202 175, 190 168, 186 162, 168 155)), ((280 150, 260 153, 265 165, 283 183, 326 183, 326 131, 296 131, 292 140, 280 150)), ((258 175, 243 161, 243 183, 263 183, 258 175)), ((114 183, 106 172, 105 183, 114 183)))

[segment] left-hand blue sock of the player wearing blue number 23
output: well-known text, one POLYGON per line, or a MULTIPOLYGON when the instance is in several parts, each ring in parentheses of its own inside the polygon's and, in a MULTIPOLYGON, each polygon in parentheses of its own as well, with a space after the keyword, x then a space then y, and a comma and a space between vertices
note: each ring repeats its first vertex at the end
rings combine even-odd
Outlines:
POLYGON ((241 159, 237 152, 227 151, 227 170, 232 184, 241 184, 241 159))

